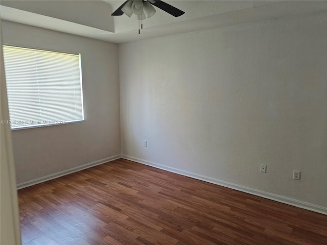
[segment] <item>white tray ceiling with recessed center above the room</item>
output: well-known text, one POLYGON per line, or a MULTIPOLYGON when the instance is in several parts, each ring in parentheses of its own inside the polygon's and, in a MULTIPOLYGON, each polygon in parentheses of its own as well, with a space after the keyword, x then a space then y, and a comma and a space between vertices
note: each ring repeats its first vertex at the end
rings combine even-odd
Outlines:
POLYGON ((219 28, 265 19, 327 11, 327 1, 164 1, 185 12, 174 17, 158 8, 143 20, 110 14, 123 1, 1 1, 4 20, 114 43, 219 28))

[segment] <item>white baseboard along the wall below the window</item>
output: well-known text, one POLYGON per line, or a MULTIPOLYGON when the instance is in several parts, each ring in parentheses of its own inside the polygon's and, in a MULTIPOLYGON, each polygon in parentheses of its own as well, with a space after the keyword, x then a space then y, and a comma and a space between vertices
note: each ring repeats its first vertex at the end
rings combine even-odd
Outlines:
POLYGON ((110 161, 113 161, 113 160, 116 160, 116 159, 119 159, 119 158, 121 158, 121 155, 115 155, 115 156, 112 156, 112 157, 107 157, 107 158, 104 158, 104 159, 100 159, 98 161, 89 162, 89 163, 86 163, 86 164, 83 164, 83 165, 80 165, 80 166, 77 166, 77 167, 69 168, 67 170, 63 170, 63 171, 60 171, 60 172, 57 172, 57 173, 54 173, 54 174, 51 174, 51 175, 47 175, 47 176, 44 176, 44 177, 40 177, 40 178, 37 178, 37 179, 34 179, 34 180, 29 180, 29 181, 26 181, 26 182, 23 182, 23 183, 19 183, 19 184, 17 184, 17 189, 19 190, 19 189, 26 188, 26 187, 29 187, 29 186, 32 186, 32 185, 36 185, 36 184, 39 184, 39 183, 42 183, 42 182, 45 182, 45 181, 48 181, 48 180, 53 180, 53 179, 56 179, 56 178, 64 176, 64 175, 69 175, 69 174, 75 173, 77 171, 80 171, 80 170, 83 170, 83 169, 86 169, 86 168, 89 168, 89 167, 94 167, 94 166, 97 166, 97 165, 100 165, 100 164, 103 164, 103 163, 106 163, 106 162, 110 162, 110 161))

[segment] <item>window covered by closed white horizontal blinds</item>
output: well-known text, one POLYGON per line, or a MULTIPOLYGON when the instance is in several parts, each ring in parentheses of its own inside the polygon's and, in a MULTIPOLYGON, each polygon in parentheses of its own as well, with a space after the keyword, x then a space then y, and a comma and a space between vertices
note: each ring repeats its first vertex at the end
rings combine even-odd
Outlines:
POLYGON ((84 120, 80 55, 3 50, 11 129, 84 120))

